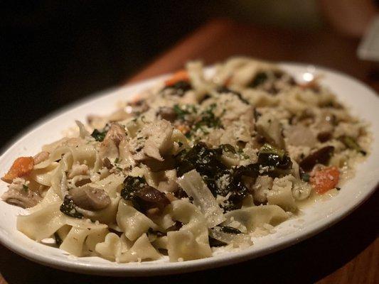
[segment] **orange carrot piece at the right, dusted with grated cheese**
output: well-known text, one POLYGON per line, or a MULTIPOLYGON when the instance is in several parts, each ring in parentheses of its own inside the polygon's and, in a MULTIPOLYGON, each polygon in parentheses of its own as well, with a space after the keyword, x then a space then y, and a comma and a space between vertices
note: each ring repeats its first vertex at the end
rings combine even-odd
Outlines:
POLYGON ((310 182, 319 195, 333 189, 338 184, 339 170, 337 167, 328 167, 316 170, 310 182))

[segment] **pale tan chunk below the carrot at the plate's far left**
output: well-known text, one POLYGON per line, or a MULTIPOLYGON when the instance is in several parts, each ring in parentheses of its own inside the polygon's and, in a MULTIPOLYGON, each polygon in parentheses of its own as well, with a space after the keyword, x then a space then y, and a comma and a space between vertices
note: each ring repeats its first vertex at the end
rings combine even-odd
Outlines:
POLYGON ((1 199, 9 204, 14 204, 22 208, 36 206, 42 200, 38 192, 30 190, 23 178, 16 178, 9 185, 9 190, 4 192, 1 199))

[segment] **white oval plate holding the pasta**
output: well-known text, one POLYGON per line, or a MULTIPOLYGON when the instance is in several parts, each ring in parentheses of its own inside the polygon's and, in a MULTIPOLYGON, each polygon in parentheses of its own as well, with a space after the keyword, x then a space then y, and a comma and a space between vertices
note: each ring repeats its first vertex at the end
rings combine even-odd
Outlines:
MULTIPOLYGON (((169 263, 167 259, 143 263, 112 263, 102 258, 75 258, 50 246, 38 244, 16 230, 17 214, 25 213, 21 208, 0 202, 0 241, 4 246, 32 261, 66 271, 98 275, 158 275, 190 272, 263 256, 317 234, 356 209, 374 191, 379 179, 379 98, 372 89, 361 82, 338 72, 321 67, 288 64, 281 65, 284 70, 302 80, 304 73, 322 74, 321 84, 329 87, 338 98, 351 108, 353 114, 370 123, 373 133, 371 153, 365 162, 357 167, 355 178, 343 185, 336 197, 313 204, 302 210, 298 217, 289 219, 275 228, 274 234, 255 239, 250 249, 238 252, 225 252, 211 258, 196 261, 169 263)), ((120 100, 130 99, 134 94, 156 84, 165 76, 156 77, 132 86, 122 87, 91 97, 53 114, 27 133, 5 151, 0 157, 0 175, 3 176, 15 158, 21 155, 38 153, 41 146, 62 137, 62 132, 74 126, 74 120, 85 121, 88 114, 110 114, 120 100)), ((7 189, 0 182, 0 194, 7 189)))

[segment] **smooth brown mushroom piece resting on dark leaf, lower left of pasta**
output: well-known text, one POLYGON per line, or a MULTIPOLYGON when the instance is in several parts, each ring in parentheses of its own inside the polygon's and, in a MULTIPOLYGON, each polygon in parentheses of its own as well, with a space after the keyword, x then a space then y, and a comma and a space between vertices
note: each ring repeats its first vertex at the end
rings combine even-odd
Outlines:
POLYGON ((110 204, 110 197, 104 190, 84 185, 70 190, 70 196, 75 205, 86 210, 104 209, 110 204))

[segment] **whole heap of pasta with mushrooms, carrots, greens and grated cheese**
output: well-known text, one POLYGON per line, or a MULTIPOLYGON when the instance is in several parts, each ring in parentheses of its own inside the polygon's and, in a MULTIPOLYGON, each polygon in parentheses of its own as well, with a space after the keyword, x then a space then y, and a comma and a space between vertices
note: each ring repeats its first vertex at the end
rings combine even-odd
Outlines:
POLYGON ((76 121, 76 136, 16 158, 2 199, 27 208, 19 231, 74 256, 246 249, 301 202, 340 190, 368 153, 367 126, 319 81, 250 58, 212 74, 189 62, 113 114, 76 121))

